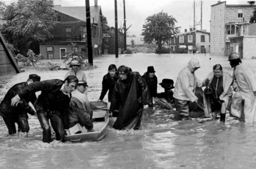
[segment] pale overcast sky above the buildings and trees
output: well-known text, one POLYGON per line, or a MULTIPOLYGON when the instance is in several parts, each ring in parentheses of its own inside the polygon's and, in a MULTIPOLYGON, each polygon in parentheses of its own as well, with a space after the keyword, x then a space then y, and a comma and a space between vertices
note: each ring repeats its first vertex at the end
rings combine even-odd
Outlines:
MULTIPOLYGON (((0 0, 7 4, 17 2, 18 0, 0 0)), ((40 0, 39 0, 40 1, 40 0)), ((200 1, 196 2, 196 24, 200 22, 200 1)), ((94 0, 89 0, 90 6, 94 6, 94 0)), ((189 30, 194 24, 194 1, 192 0, 126 0, 126 27, 131 27, 127 31, 128 35, 136 36, 142 33, 142 26, 146 23, 148 16, 164 11, 168 15, 173 16, 177 23, 176 27, 181 27, 181 32, 185 29, 189 30)), ((202 5, 202 29, 210 32, 210 16, 211 5, 217 4, 217 1, 203 1, 202 5)), ((226 4, 247 4, 247 1, 226 1, 226 4)), ((85 0, 54 0, 54 5, 62 7, 85 6, 85 0)), ((98 6, 107 18, 108 25, 115 27, 115 1, 114 0, 98 0, 98 6)), ((117 0, 118 10, 118 28, 124 24, 124 7, 123 0, 117 0)), ((196 26, 200 30, 200 25, 196 26)))

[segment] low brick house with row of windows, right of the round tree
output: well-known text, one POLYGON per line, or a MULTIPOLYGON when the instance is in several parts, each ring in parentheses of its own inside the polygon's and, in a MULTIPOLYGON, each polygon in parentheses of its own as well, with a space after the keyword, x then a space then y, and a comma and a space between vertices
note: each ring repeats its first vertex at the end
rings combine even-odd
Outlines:
POLYGON ((206 31, 185 29, 184 33, 172 36, 169 41, 171 53, 178 53, 179 48, 187 49, 187 53, 193 53, 193 46, 196 46, 197 53, 209 53, 210 33, 206 31))

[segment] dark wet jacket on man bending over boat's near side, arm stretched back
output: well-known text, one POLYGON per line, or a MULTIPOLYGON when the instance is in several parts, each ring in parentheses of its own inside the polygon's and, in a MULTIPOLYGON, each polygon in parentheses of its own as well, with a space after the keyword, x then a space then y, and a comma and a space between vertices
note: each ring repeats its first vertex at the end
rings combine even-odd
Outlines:
POLYGON ((64 128, 68 129, 68 107, 70 98, 60 91, 63 83, 64 81, 59 79, 34 82, 18 92, 18 95, 20 98, 26 98, 27 95, 42 91, 34 105, 35 109, 37 111, 43 110, 45 112, 51 112, 62 117, 64 128))

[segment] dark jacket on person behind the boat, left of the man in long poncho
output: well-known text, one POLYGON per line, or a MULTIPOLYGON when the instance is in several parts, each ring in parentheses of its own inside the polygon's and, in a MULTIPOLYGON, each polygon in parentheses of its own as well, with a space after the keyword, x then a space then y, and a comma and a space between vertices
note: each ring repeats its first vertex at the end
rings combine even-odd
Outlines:
POLYGON ((110 74, 107 73, 104 75, 103 80, 102 80, 102 91, 100 94, 100 100, 103 100, 104 96, 107 93, 107 90, 109 90, 109 95, 108 99, 111 101, 112 93, 115 87, 115 82, 118 80, 118 77, 115 76, 114 78, 110 77, 110 74))

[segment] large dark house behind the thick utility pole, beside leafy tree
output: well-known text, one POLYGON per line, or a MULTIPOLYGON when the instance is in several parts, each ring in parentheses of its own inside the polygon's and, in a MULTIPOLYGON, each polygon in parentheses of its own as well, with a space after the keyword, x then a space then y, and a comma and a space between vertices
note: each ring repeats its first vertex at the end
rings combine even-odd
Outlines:
MULTIPOLYGON (((66 53, 72 51, 71 43, 75 43, 75 50, 88 56, 87 31, 86 31, 86 8, 84 7, 61 7, 55 5, 53 9, 57 13, 56 24, 51 34, 52 39, 40 43, 40 53, 43 59, 65 59, 66 53)), ((101 7, 90 7, 91 11, 91 37, 92 51, 95 56, 101 55, 102 51, 102 13, 101 7)))

